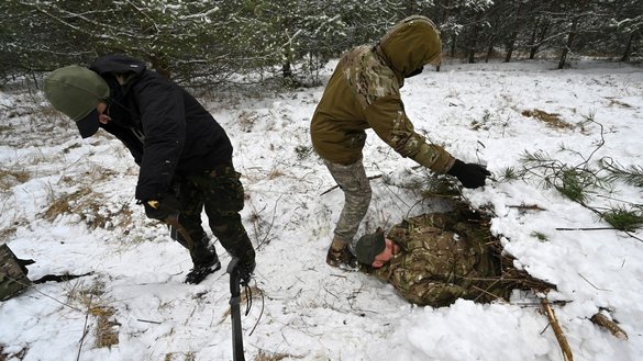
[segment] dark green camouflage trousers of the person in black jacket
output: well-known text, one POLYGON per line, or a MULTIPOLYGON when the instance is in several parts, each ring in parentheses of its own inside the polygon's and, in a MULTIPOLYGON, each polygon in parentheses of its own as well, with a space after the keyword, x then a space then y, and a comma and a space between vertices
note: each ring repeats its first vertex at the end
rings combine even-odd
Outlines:
MULTIPOLYGON (((179 224, 186 228, 193 241, 190 256, 195 264, 208 257, 208 236, 201 225, 201 213, 206 210, 210 229, 223 248, 241 264, 255 260, 255 250, 241 222, 239 212, 244 206, 241 174, 234 167, 222 165, 213 170, 195 174, 175 176, 173 189, 180 203, 179 224)), ((188 242, 179 234, 175 239, 188 248, 188 242)))

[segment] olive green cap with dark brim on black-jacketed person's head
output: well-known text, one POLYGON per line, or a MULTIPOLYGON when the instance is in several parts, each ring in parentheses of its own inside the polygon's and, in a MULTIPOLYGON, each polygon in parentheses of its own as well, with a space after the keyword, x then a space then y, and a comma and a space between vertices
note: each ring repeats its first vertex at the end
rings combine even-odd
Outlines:
POLYGON ((77 65, 56 69, 45 78, 45 98, 76 122, 84 138, 98 131, 96 105, 109 95, 110 88, 104 79, 77 65))

